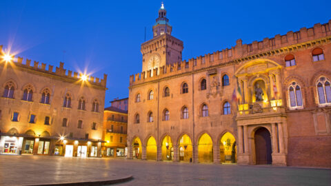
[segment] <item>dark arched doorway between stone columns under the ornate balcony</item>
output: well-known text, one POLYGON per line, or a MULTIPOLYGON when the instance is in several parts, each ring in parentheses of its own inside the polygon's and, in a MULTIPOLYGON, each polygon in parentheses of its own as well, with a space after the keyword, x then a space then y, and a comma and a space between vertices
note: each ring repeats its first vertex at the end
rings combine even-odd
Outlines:
POLYGON ((265 127, 261 127, 255 131, 254 143, 257 165, 271 165, 272 151, 270 132, 265 127))

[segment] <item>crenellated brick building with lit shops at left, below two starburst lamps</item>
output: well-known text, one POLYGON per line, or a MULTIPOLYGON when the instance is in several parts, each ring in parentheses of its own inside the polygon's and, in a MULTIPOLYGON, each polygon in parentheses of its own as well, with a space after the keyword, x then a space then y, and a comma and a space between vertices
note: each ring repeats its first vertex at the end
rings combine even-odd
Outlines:
POLYGON ((106 74, 0 52, 0 154, 101 157, 106 74))

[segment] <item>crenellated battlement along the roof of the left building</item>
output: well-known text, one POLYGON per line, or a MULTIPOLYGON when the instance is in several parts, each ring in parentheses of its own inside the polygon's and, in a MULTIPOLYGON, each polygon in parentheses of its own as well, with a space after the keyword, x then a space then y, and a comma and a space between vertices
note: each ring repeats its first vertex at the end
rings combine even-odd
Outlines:
MULTIPOLYGON (((0 45, 0 54, 3 54, 3 45, 0 45)), ((30 59, 26 59, 25 63, 23 63, 23 57, 20 56, 13 56, 12 57, 14 65, 16 65, 19 68, 26 68, 29 70, 35 70, 37 72, 43 72, 46 74, 52 74, 55 76, 62 77, 64 79, 68 79, 69 81, 79 81, 81 79, 81 76, 83 74, 79 72, 72 72, 72 70, 66 70, 64 68, 64 63, 60 62, 59 67, 55 67, 53 65, 48 65, 48 68, 46 63, 40 63, 39 61, 34 61, 33 64, 31 63, 30 59)), ((87 81, 91 83, 92 85, 97 85, 101 87, 106 88, 107 83, 107 74, 103 74, 103 79, 99 79, 94 76, 87 76, 87 81)))

